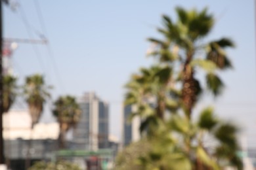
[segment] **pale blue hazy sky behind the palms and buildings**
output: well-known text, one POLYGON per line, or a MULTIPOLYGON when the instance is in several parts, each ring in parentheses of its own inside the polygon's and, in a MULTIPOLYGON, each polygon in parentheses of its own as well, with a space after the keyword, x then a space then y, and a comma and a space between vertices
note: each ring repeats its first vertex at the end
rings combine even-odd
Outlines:
MULTIPOLYGON (((4 37, 40 39, 49 44, 18 43, 12 68, 24 82, 33 73, 45 75, 59 95, 81 96, 94 91, 110 103, 110 132, 121 137, 124 84, 131 73, 152 60, 146 58, 148 37, 160 37, 161 15, 175 18, 175 7, 203 9, 213 13, 215 27, 207 39, 229 37, 236 48, 228 50, 234 69, 219 73, 226 89, 217 99, 203 97, 198 108, 214 105, 217 114, 236 122, 256 147, 256 61, 254 1, 21 1, 16 10, 4 7, 4 37), (37 3, 35 3, 37 2, 37 3), (39 5, 39 6, 38 6, 39 5), (38 8, 39 7, 39 8, 38 8), (41 10, 41 12, 37 13, 41 10), (38 15, 39 14, 39 15, 38 15)), ((41 122, 53 120, 46 107, 41 122)))

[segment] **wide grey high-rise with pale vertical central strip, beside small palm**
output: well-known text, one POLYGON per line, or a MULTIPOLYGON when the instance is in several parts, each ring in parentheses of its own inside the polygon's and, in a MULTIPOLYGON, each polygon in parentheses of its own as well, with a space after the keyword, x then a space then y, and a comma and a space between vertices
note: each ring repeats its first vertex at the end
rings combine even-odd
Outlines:
POLYGON ((108 148, 108 103, 102 101, 94 92, 87 92, 79 99, 79 106, 82 113, 74 129, 72 148, 78 150, 108 148))

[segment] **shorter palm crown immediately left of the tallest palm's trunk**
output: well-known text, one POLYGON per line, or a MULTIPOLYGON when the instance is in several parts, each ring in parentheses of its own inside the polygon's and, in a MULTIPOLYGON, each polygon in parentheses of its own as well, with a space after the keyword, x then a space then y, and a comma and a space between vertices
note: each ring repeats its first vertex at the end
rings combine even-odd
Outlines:
POLYGON ((179 109, 178 102, 167 95, 171 90, 171 75, 172 69, 168 65, 153 65, 148 69, 141 68, 140 73, 132 75, 126 84, 125 105, 137 108, 130 119, 140 116, 141 132, 157 133, 155 129, 163 125, 166 110, 175 112, 179 109))

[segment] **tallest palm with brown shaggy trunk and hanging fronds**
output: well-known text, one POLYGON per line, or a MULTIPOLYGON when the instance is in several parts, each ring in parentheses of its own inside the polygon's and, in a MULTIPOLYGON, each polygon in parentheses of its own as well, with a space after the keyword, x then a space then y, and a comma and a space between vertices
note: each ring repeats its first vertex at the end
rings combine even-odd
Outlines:
POLYGON ((158 29, 165 39, 148 39, 158 44, 150 54, 157 56, 161 63, 169 63, 177 72, 177 81, 182 84, 181 99, 183 109, 188 118, 201 92, 200 81, 196 79, 196 69, 204 69, 207 88, 214 95, 219 95, 223 89, 223 82, 217 76, 217 70, 228 69, 231 63, 224 48, 234 46, 230 39, 222 38, 217 41, 204 42, 209 35, 214 19, 207 9, 184 10, 177 8, 177 21, 173 22, 169 16, 163 16, 163 28, 158 29), (205 56, 202 58, 201 56, 205 56), (179 68, 176 68, 179 66, 179 68))

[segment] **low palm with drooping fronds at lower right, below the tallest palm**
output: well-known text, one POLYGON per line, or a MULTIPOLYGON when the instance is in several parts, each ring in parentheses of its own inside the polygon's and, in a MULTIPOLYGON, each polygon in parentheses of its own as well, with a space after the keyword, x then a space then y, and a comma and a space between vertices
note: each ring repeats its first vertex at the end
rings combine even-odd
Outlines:
POLYGON ((237 154, 240 150, 236 138, 239 129, 217 118, 213 108, 203 109, 196 122, 175 114, 167 124, 177 135, 177 145, 190 158, 194 169, 222 169, 225 166, 242 169, 242 160, 237 154))

